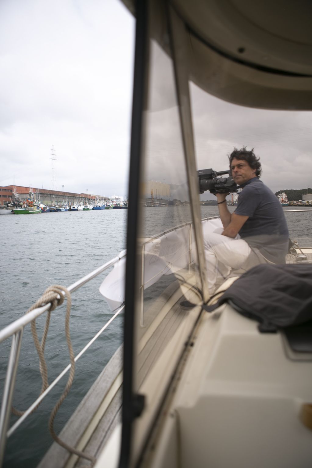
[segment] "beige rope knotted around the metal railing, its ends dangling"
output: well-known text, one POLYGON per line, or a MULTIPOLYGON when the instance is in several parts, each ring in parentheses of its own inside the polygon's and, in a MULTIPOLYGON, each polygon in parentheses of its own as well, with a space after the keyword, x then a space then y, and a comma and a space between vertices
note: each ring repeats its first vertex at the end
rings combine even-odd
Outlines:
MULTIPOLYGON (((70 295, 70 292, 68 289, 64 286, 60 285, 53 285, 49 286, 43 295, 41 296, 40 299, 37 300, 37 302, 31 306, 26 314, 29 314, 32 310, 37 309, 38 307, 43 307, 49 302, 51 303, 51 307, 47 311, 46 315, 46 320, 45 320, 45 328, 44 332, 42 335, 41 343, 38 338, 37 334, 37 328, 36 328, 36 319, 34 319, 31 322, 31 333, 32 337, 36 346, 36 350, 39 356, 39 367, 40 367, 40 373, 41 373, 41 379, 42 379, 42 388, 40 395, 48 388, 49 382, 48 382, 48 369, 46 366, 45 362, 45 342, 46 342, 46 337, 48 334, 48 329, 50 325, 50 318, 51 318, 51 312, 64 302, 64 298, 66 297, 67 304, 66 304, 66 316, 65 316, 65 335, 66 335, 66 341, 67 341, 67 347, 68 347, 68 352, 69 352, 69 357, 70 357, 70 372, 69 372, 69 377, 67 380, 67 384, 64 388, 64 391, 62 395, 60 396, 58 402, 55 404, 54 408, 52 409, 50 418, 49 418, 49 430, 52 435, 52 438, 62 447, 66 448, 69 452, 74 453, 75 455, 78 455, 79 457, 86 458, 87 460, 92 462, 92 465, 94 465, 96 458, 93 457, 92 455, 88 455, 86 453, 81 452, 80 450, 75 449, 74 447, 71 447, 66 444, 66 442, 63 442, 63 440, 59 439, 59 437, 56 435, 54 431, 54 419, 55 416, 59 410, 59 407, 61 404, 64 402, 65 398, 68 395, 68 392, 73 384, 74 380, 74 373, 75 373, 75 361, 74 361, 74 351, 73 351, 73 346, 72 346, 72 341, 70 338, 70 331, 69 331, 69 318, 70 318, 70 310, 71 310, 71 305, 72 305, 72 298, 70 295), (64 293, 64 294, 63 294, 64 293)), ((34 412, 38 406, 40 405, 40 402, 37 404, 37 406, 32 410, 34 412)), ((12 412, 16 416, 22 416, 24 414, 24 411, 19 411, 18 409, 12 408, 12 412)))

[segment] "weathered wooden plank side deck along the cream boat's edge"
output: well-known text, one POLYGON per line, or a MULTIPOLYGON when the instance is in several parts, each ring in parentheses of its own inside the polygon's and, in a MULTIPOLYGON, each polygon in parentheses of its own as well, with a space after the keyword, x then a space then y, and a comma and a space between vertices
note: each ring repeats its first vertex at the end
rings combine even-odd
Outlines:
MULTIPOLYGON (((185 271, 189 284, 194 275, 185 271)), ((167 277, 168 278, 168 277, 167 277)), ((192 281, 193 278, 193 281, 192 281)), ((144 312, 144 326, 140 329, 137 380, 139 387, 149 369, 170 341, 184 317, 189 313, 179 307, 183 292, 178 281, 172 282, 144 312)), ((94 457, 101 452, 108 437, 121 419, 123 346, 115 352, 98 376, 72 417, 60 433, 60 439, 94 457)), ((53 443, 38 468, 82 467, 83 458, 72 456, 53 443), (70 458, 73 457, 71 460, 70 458), (75 460, 74 460, 75 459, 75 460), (69 462, 69 464, 68 464, 69 462)))

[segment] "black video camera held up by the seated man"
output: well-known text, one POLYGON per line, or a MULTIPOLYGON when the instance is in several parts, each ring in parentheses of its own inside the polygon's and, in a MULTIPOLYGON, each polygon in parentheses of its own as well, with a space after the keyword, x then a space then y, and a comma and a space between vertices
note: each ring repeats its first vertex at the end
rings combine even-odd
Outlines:
POLYGON ((237 192, 238 185, 230 175, 230 169, 227 171, 216 172, 213 169, 201 169, 198 171, 198 181, 200 193, 209 190, 210 193, 229 193, 237 192), (229 177, 218 177, 223 174, 229 174, 229 177))

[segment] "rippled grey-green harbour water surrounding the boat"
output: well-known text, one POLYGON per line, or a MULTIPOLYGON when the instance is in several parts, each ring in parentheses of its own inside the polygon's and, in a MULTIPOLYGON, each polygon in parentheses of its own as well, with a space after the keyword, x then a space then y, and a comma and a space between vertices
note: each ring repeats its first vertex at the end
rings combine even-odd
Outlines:
MULTIPOLYGON (((230 210, 233 209, 230 207, 230 210)), ((202 207, 203 218, 217 213, 217 207, 202 207)), ((126 216, 127 210, 43 213, 36 216, 0 215, 0 327, 21 317, 49 285, 68 286, 125 249, 126 216)), ((144 234, 152 235, 191 220, 191 215, 188 207, 146 208, 144 218, 144 234)), ((302 246, 311 245, 312 212, 287 213, 286 219, 290 237, 302 246)), ((75 354, 111 317, 111 311, 98 291, 105 274, 73 294, 70 329, 75 354)), ((64 317, 65 307, 52 312, 45 351, 50 382, 68 364, 64 317)), ((120 315, 77 362, 73 387, 56 417, 56 432, 63 427, 121 343, 122 321, 120 315)), ((44 317, 37 320, 39 336, 43 323, 44 317)), ((0 345, 1 392, 9 347, 9 341, 0 345)), ((5 466, 37 465, 51 445, 47 421, 65 382, 66 377, 9 439, 5 466)), ((26 409, 39 395, 40 388, 37 352, 30 327, 27 327, 18 368, 15 407, 26 409)), ((12 421, 14 419, 12 417, 12 421)))

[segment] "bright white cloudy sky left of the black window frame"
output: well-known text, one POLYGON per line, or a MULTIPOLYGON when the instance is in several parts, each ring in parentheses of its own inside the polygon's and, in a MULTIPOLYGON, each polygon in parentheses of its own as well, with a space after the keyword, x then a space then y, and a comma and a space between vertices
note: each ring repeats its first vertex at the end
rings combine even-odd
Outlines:
POLYGON ((125 195, 134 58, 126 8, 4 1, 0 44, 0 183, 52 188, 53 144, 59 188, 125 195))

